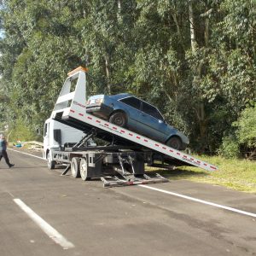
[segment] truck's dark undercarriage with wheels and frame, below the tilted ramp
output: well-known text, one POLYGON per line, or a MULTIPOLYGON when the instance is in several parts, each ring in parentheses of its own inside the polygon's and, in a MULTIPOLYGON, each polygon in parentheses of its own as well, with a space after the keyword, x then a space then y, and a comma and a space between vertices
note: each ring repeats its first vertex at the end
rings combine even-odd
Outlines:
POLYGON ((67 145, 51 150, 49 169, 65 164, 67 167, 61 175, 71 170, 72 177, 81 177, 84 181, 101 178, 104 187, 168 182, 158 173, 154 177, 145 174, 145 163, 152 162, 150 151, 119 145, 88 146, 88 141, 95 134, 92 130, 72 147, 67 145))

